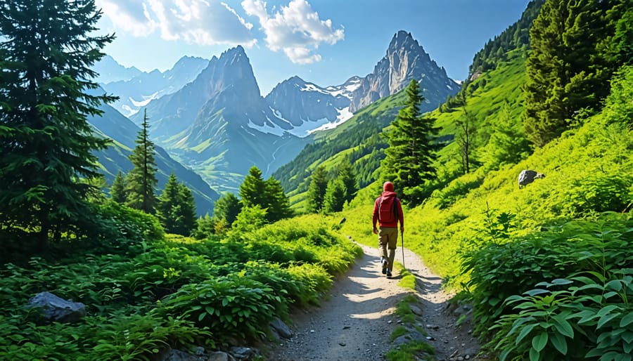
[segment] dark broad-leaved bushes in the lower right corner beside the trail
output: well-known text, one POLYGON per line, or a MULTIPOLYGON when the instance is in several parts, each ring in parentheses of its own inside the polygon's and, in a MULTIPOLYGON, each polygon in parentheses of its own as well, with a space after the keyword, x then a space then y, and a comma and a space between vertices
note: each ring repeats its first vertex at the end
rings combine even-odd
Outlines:
POLYGON ((497 322, 491 345, 501 360, 528 353, 530 360, 532 353, 541 360, 629 354, 633 343, 620 335, 633 335, 633 320, 625 320, 633 301, 632 219, 606 213, 512 239, 512 218, 499 217, 487 225, 487 243, 466 253, 463 271, 471 273, 478 332, 487 335, 497 322))

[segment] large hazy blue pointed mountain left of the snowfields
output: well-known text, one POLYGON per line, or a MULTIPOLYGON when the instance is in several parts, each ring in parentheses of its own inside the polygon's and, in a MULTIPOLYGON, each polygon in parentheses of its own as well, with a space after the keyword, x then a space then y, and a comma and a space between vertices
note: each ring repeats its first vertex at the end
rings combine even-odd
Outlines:
MULTIPOLYGON (((254 165, 269 174, 305 145, 260 95, 241 46, 213 57, 194 81, 146 110, 151 137, 219 190, 237 190, 254 165)), ((140 123, 141 114, 131 119, 140 123)))

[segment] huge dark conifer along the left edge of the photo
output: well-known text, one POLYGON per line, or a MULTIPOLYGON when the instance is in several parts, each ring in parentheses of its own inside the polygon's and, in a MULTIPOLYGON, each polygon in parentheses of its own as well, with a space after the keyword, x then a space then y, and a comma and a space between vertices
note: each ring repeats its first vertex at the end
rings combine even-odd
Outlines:
MULTIPOLYGON (((91 67, 112 35, 96 36, 94 0, 0 0, 0 225, 37 230, 44 251, 49 232, 81 231, 94 150, 107 140, 87 116, 115 98, 94 95, 91 67)), ((88 222, 89 223, 89 222, 88 222)))

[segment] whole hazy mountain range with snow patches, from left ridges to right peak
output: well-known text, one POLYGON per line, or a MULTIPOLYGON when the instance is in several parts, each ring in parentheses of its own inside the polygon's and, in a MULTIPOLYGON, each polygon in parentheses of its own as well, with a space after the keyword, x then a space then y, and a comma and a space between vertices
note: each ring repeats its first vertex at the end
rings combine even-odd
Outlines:
POLYGON ((136 124, 142 122, 138 110, 145 108, 151 138, 215 190, 236 191, 251 166, 271 175, 312 143, 314 134, 343 124, 411 79, 421 79, 423 110, 433 110, 459 88, 410 33, 398 32, 371 74, 338 86, 291 77, 263 98, 237 46, 206 63, 183 58, 170 72, 106 84, 106 90, 121 96, 117 108, 136 124))

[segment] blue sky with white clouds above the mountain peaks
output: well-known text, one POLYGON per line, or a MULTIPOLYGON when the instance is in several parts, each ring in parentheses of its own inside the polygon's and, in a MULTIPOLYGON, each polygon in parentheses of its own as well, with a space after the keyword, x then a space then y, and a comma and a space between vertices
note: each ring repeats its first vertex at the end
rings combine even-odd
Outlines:
POLYGON ((237 45, 262 96, 298 75, 319 86, 364 77, 399 30, 411 32, 449 77, 520 18, 528 0, 96 0, 104 51, 125 66, 170 69, 184 55, 210 59, 237 45))

